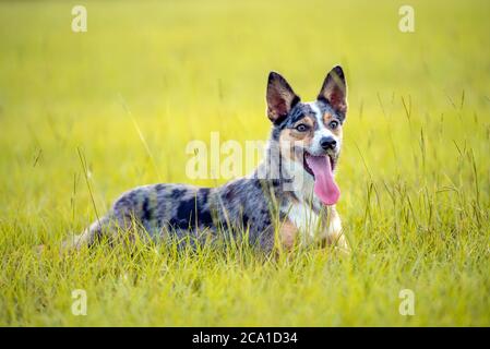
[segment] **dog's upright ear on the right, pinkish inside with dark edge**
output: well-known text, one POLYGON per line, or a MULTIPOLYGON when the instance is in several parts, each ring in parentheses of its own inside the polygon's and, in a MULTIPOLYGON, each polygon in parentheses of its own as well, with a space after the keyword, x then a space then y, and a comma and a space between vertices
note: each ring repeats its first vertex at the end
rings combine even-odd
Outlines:
POLYGON ((347 112, 347 84, 340 65, 334 67, 326 75, 319 100, 327 101, 344 118, 347 112))

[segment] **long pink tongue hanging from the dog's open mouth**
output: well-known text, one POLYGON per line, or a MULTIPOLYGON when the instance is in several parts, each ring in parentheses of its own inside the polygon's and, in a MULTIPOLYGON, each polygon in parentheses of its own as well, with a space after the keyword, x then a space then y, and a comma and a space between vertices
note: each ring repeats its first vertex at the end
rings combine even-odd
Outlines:
POLYGON ((334 205, 340 190, 334 181, 328 156, 308 156, 307 164, 314 173, 314 192, 325 205, 334 205))

